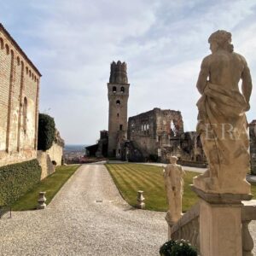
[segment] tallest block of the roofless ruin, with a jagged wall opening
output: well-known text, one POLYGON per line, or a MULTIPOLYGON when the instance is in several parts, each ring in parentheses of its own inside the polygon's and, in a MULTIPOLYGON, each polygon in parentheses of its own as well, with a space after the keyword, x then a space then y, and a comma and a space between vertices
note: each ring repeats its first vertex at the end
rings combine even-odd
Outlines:
POLYGON ((179 111, 154 108, 129 118, 128 140, 139 148, 144 158, 150 154, 159 157, 172 147, 171 139, 178 140, 183 133, 183 119, 179 111))

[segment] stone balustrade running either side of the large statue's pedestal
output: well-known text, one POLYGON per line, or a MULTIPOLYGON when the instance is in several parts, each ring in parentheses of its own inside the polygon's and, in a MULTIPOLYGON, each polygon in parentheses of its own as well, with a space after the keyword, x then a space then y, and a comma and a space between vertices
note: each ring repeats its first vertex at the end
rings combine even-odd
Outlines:
MULTIPOLYGON (((248 224, 256 220, 256 200, 242 201, 241 207, 241 240, 242 256, 253 256, 253 238, 248 230, 248 224)), ((170 222, 169 239, 188 240, 193 246, 200 248, 200 227, 199 227, 200 205, 195 204, 188 212, 183 214, 175 224, 170 222)))

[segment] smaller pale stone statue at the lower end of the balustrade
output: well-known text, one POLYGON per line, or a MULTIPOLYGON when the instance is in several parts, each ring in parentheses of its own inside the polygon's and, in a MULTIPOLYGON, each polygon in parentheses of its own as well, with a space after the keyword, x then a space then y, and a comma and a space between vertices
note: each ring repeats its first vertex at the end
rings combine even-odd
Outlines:
POLYGON ((184 173, 183 167, 177 165, 177 156, 171 156, 170 164, 165 167, 163 175, 168 203, 167 218, 169 218, 172 223, 177 222, 182 216, 184 173))

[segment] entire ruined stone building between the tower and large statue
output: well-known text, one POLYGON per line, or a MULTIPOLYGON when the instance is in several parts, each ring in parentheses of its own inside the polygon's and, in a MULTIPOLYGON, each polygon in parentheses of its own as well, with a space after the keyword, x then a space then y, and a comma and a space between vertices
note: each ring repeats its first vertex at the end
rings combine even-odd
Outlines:
POLYGON ((128 142, 124 147, 129 148, 128 160, 132 161, 166 162, 170 155, 177 155, 186 165, 196 166, 206 161, 200 137, 195 131, 184 132, 182 114, 170 109, 154 108, 130 117, 128 142))

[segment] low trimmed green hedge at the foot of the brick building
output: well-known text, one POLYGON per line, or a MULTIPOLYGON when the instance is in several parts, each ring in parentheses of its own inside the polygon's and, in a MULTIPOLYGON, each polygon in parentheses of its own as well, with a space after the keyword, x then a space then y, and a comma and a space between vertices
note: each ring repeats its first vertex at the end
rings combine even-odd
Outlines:
POLYGON ((40 181, 38 160, 0 167, 0 205, 10 205, 40 181))

